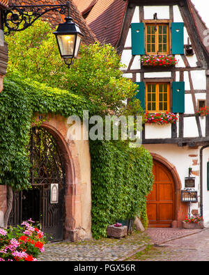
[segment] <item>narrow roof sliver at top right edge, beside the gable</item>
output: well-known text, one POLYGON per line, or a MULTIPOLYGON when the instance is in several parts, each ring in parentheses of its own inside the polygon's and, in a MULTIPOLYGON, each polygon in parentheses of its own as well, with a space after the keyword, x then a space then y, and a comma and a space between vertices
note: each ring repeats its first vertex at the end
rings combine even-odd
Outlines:
POLYGON ((199 39, 201 40, 203 47, 206 49, 206 51, 209 54, 209 43, 204 42, 206 36, 208 36, 208 32, 206 31, 206 30, 208 30, 208 27, 206 26, 206 23, 203 22, 202 17, 199 15, 199 12, 198 12, 198 10, 196 10, 192 1, 187 0, 187 3, 189 6, 189 11, 190 11, 192 18, 194 20, 194 24, 196 26, 196 30, 199 35, 199 39))

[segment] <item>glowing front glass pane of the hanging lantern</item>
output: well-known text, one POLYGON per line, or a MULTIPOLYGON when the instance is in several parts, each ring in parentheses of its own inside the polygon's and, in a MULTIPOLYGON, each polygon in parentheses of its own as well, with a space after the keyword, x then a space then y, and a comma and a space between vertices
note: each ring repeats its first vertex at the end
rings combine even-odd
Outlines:
POLYGON ((57 36, 62 56, 73 56, 75 35, 57 36))

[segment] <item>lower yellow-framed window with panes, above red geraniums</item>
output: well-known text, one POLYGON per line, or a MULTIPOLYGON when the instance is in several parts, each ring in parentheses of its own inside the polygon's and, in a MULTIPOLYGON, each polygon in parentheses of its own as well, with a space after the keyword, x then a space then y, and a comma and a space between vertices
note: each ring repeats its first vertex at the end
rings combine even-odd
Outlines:
POLYGON ((170 85, 168 83, 146 84, 146 111, 149 113, 170 111, 170 85))

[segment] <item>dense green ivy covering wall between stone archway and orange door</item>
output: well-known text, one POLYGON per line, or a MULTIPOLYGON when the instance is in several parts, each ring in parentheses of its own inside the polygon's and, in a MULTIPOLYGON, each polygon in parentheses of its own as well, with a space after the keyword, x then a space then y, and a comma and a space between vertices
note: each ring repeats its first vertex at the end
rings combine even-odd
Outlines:
POLYGON ((91 141, 92 232, 105 237, 116 219, 141 217, 147 226, 146 196, 153 186, 149 152, 122 141, 91 141))

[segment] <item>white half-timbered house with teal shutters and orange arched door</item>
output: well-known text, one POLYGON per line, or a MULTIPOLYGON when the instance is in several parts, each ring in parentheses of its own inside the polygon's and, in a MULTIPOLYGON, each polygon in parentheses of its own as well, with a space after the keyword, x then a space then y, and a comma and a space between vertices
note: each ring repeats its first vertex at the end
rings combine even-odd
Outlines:
POLYGON ((155 183, 147 203, 149 226, 181 227, 188 211, 203 215, 206 226, 209 223, 206 24, 190 0, 76 0, 75 3, 98 40, 111 43, 121 54, 121 62, 126 65, 122 69, 124 77, 138 84, 137 97, 149 118, 144 124, 142 143, 154 162, 155 183), (165 122, 171 114, 178 118, 176 123, 165 122), (185 194, 182 196, 185 188, 194 191, 188 200, 192 203, 186 203, 185 194))

